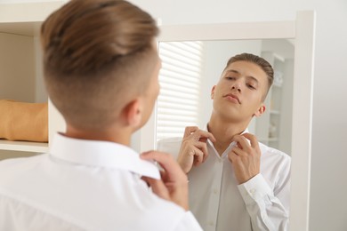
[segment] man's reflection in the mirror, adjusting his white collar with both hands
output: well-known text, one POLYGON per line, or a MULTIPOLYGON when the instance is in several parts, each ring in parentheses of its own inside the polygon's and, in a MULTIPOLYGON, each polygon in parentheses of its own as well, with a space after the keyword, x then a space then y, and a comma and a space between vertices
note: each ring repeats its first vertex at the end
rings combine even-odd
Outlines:
POLYGON ((182 140, 158 143, 188 174, 190 209, 204 230, 287 229, 290 157, 246 132, 265 111, 272 81, 266 60, 249 53, 232 57, 212 88, 206 129, 187 127, 182 140))

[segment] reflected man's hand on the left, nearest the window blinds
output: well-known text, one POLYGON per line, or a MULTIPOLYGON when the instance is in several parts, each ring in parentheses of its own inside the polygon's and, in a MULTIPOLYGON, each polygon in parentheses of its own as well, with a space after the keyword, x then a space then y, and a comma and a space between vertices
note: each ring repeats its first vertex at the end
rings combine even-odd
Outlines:
POLYGON ((185 173, 190 172, 191 168, 204 163, 207 153, 207 139, 215 142, 214 135, 208 131, 199 130, 198 127, 186 127, 180 148, 180 153, 177 157, 177 162, 180 164, 185 173))

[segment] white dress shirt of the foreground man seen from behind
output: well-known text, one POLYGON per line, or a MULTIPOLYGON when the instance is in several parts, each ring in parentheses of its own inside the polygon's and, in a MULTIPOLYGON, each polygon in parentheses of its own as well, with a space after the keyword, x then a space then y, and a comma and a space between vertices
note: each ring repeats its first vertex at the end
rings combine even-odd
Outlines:
POLYGON ((57 134, 49 154, 0 162, 0 230, 201 230, 141 176, 159 173, 131 148, 57 134))

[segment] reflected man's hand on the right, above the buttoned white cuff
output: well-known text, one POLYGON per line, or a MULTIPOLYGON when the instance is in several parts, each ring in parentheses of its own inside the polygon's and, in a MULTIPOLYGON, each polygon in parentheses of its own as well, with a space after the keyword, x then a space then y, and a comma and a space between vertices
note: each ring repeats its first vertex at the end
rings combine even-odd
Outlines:
POLYGON ((228 154, 238 184, 243 184, 260 172, 261 150, 254 135, 244 133, 233 137, 237 145, 228 154), (248 140, 250 143, 248 142, 248 140))

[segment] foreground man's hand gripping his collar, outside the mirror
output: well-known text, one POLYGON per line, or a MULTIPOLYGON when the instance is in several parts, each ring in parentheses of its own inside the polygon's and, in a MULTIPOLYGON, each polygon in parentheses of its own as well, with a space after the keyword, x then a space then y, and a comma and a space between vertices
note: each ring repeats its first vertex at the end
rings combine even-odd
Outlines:
POLYGON ((142 153, 141 159, 154 160, 163 168, 163 171, 160 171, 161 179, 142 177, 152 187, 153 193, 167 201, 178 204, 188 211, 188 179, 173 159, 173 156, 157 151, 149 151, 142 153))

